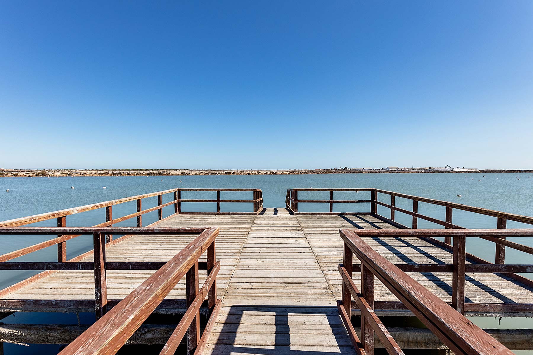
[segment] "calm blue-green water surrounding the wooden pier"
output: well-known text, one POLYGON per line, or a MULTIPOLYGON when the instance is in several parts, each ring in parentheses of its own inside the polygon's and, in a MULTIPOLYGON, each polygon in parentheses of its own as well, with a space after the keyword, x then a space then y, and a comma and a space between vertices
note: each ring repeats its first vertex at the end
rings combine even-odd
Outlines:
MULTIPOLYGON (((59 177, 59 178, 0 178, 0 220, 29 216, 31 214, 77 207, 80 205, 108 201, 165 189, 183 188, 260 188, 263 191, 264 207, 284 207, 288 188, 348 188, 374 187, 399 193, 431 197, 500 210, 533 215, 533 174, 320 174, 320 175, 235 175, 235 176, 132 176, 132 177, 59 177), (518 178, 517 178, 518 177, 518 178), (161 181, 163 180, 163 181, 161 181), (181 182, 180 182, 181 180, 181 182), (478 181, 481 180, 481 181, 478 181), (74 186, 75 189, 71 189, 74 186), (106 186, 106 189, 102 187, 106 186), (9 189, 9 192, 5 192, 9 189), (462 197, 457 197, 457 194, 462 197)), ((335 193, 334 199, 369 199, 368 192, 335 193)), ((214 198, 215 193, 182 193, 182 198, 214 198)), ((252 193, 224 193, 223 199, 252 199, 252 193)), ((328 192, 298 194, 300 199, 328 199, 328 192)), ((171 201, 172 194, 163 202, 171 201)), ((390 197, 379 195, 379 200, 390 202, 390 197)), ((143 209, 155 206, 157 197, 143 200, 143 209)), ((398 207, 411 209, 412 202, 399 199, 398 207)), ((215 204, 183 203, 183 211, 214 211, 215 204)), ((222 211, 251 211, 251 204, 222 204, 222 211)), ((328 204, 300 204, 299 211, 327 211, 328 204)), ((334 205, 334 211, 368 212, 369 204, 334 205)), ((114 207, 115 218, 135 211, 135 202, 128 202, 114 207)), ((445 208, 426 203, 419 203, 418 212, 427 216, 444 219, 445 208)), ((104 210, 88 211, 67 216, 67 226, 92 226, 104 221, 104 210)), ((173 213, 173 206, 164 209, 164 217, 173 213)), ((389 216, 389 210, 378 206, 378 213, 389 216)), ((454 210, 454 224, 467 228, 495 228, 496 218, 480 216, 475 213, 454 210)), ((157 212, 143 216, 143 224, 157 220, 157 212)), ((410 226, 411 217, 396 212, 396 220, 410 226)), ((55 220, 45 221, 35 226, 54 226, 55 220)), ((119 226, 133 226, 135 220, 125 221, 119 226)), ((530 228, 509 221, 508 228, 530 228)), ((418 228, 441 228, 431 222, 418 221, 418 228)), ((1 253, 20 249, 23 246, 46 240, 41 236, 0 236, 1 253)), ((523 244, 533 246, 530 238, 522 238, 523 244)), ((77 237, 67 242, 68 258, 75 257, 92 248, 90 236, 77 237)), ((494 260, 495 246, 481 240, 467 241, 467 251, 488 260, 494 260)), ((19 261, 39 260, 54 261, 56 248, 50 247, 42 251, 18 258, 19 261)), ((507 263, 531 263, 529 255, 507 249, 507 263)), ((0 288, 28 277, 30 271, 0 271, 0 288)), ((526 275, 530 276, 530 275, 526 275)), ((80 315, 82 323, 90 323, 92 315, 80 315)), ((5 318, 5 323, 41 323, 43 318, 35 313, 25 313, 5 318)), ((54 315, 55 323, 77 323, 75 315, 54 315)), ((514 328, 524 326, 529 321, 504 319, 501 324, 492 319, 475 319, 483 327, 514 328), (517 325, 519 324, 519 325, 517 325)), ((6 353, 56 353, 57 345, 49 346, 5 346, 6 353)))

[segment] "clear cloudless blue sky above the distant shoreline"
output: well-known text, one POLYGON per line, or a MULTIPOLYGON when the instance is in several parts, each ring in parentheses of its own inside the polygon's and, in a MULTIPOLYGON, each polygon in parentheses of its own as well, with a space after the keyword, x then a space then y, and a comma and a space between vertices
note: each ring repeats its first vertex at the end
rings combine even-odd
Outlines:
POLYGON ((0 2, 0 167, 533 168, 533 2, 0 2))

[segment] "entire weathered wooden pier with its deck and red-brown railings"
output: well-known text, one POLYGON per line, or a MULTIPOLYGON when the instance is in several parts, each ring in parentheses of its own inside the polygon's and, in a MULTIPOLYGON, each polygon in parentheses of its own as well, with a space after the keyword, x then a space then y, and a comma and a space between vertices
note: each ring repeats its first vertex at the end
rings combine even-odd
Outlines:
POLYGON ((504 229, 507 219, 533 224, 531 217, 377 189, 291 189, 285 208, 263 208, 258 189, 240 190, 251 192, 251 200, 221 200, 221 191, 232 190, 207 190, 216 193, 216 199, 183 200, 180 189, 173 189, 0 222, 3 235, 58 235, 0 255, 2 269, 43 270, 0 291, 3 315, 94 311, 98 319, 91 327, 0 325, 0 341, 53 339, 70 343, 61 352, 65 355, 111 354, 125 343, 166 344, 157 350, 161 353, 173 353, 181 343, 184 352, 197 355, 372 354, 374 346, 389 353, 402 353, 400 348, 507 353, 504 345, 533 349, 531 329, 488 330, 493 338, 475 326, 463 326, 467 323, 462 316, 533 316, 533 284, 516 274, 531 273, 533 266, 505 264, 505 247, 533 253, 531 247, 505 238, 531 237, 533 229, 504 229), (369 198, 333 200, 334 191, 356 190, 367 192, 369 198), (330 191, 330 199, 298 200, 297 191, 330 191), (378 200, 378 193, 392 196, 391 201, 378 200), (166 194, 173 199, 163 203, 161 196, 166 194), (157 208, 143 211, 141 200, 155 196, 157 208), (413 210, 395 207, 395 198, 415 201, 413 210), (128 201, 137 201, 136 212, 112 216, 112 206, 128 201), (221 203, 241 201, 251 203, 252 211, 220 212, 221 203), (329 212, 298 212, 298 203, 309 201, 329 204, 329 212), (216 203, 217 212, 182 211, 181 202, 216 203), (443 205, 445 219, 419 214, 418 202, 443 205), (360 213, 333 212, 334 203, 370 203, 371 208, 360 213), (391 215, 377 214, 377 205, 389 207, 391 215), (102 224, 65 227, 69 214, 97 208, 106 210, 102 224), (163 218, 163 208, 174 208, 174 213, 163 218), (494 216, 499 230, 461 229, 452 223, 453 209, 494 216), (413 216, 414 228, 422 218, 447 229, 406 228, 394 220, 395 211, 413 216), (158 221, 142 227, 142 216, 149 212, 158 213, 158 221), (51 218, 58 220, 58 228, 25 227, 51 218), (136 219, 138 227, 113 227, 126 219, 136 219), (65 242, 80 234, 93 235, 94 252, 66 260, 65 242), (467 254, 464 245, 471 237, 494 242, 497 263, 467 254), (53 245, 58 247, 57 262, 12 261, 53 245), (390 275, 403 280, 407 291, 399 290, 390 275), (427 293, 429 301, 413 306, 408 301, 413 290, 427 293), (175 321, 171 326, 144 323, 152 313, 175 321), (128 314, 132 317, 126 319, 128 314), (387 330, 374 315, 415 315, 424 324, 423 319, 429 319, 430 325, 426 324, 429 329, 387 330), (201 328, 205 327, 201 334, 200 318, 201 328), (118 330, 111 331, 110 324, 118 330), (362 335, 360 325, 366 327, 362 335), (469 337, 477 345, 465 341, 469 337))

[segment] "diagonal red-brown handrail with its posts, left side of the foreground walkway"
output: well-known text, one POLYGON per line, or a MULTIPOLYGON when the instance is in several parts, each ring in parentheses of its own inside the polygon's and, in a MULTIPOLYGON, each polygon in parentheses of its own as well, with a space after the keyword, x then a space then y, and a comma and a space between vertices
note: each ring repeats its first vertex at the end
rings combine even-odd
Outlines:
MULTIPOLYGON (((145 228, 144 232, 148 232, 146 229, 148 228, 145 228)), ((160 229, 168 233, 168 229, 160 229)), ((109 230, 108 232, 112 231, 109 230)), ((95 233, 101 235, 104 232, 97 231, 95 233)), ((212 319, 216 317, 221 304, 220 299, 216 299, 215 283, 216 274, 220 269, 220 262, 215 260, 215 238, 218 234, 219 228, 217 227, 205 228, 195 240, 185 246, 139 287, 135 288, 124 300, 103 314, 96 323, 67 345, 60 354, 115 354, 183 276, 187 277, 188 309, 165 348, 169 349, 168 353, 173 353, 170 350, 177 348, 183 335, 187 332, 188 354, 203 351, 201 347, 205 346, 211 328, 207 327, 200 339, 200 305, 207 296, 211 309, 209 320, 212 327, 212 319), (208 277, 201 289, 198 290, 198 259, 204 252, 207 252, 208 277)), ((95 257, 96 255, 95 253, 95 257)), ((101 265, 103 265, 103 258, 100 258, 101 265)), ((99 261, 95 258, 95 265, 98 263, 99 261)), ((161 353, 167 352, 162 351, 161 353)))

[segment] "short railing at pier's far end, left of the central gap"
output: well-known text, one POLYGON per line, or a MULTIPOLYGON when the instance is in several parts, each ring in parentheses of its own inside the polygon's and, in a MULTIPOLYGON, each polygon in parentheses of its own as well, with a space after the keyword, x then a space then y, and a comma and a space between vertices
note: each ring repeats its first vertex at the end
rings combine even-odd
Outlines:
POLYGON ((215 214, 215 212, 182 212, 182 202, 201 202, 201 203, 216 203, 216 214, 257 214, 263 209, 263 192, 259 188, 180 188, 177 192, 177 212, 182 214, 215 214), (184 191, 194 192, 216 192, 216 199, 192 200, 182 199, 181 193, 184 191), (221 192, 252 192, 252 200, 222 200, 220 198, 221 192), (253 212, 221 212, 221 203, 253 203, 253 212))

